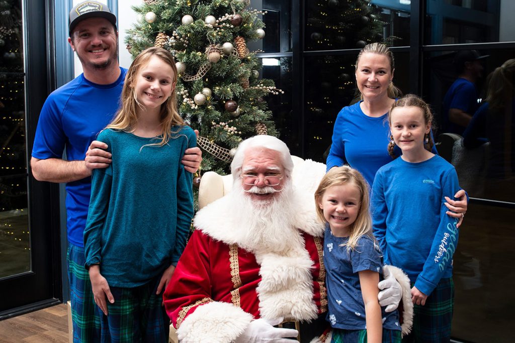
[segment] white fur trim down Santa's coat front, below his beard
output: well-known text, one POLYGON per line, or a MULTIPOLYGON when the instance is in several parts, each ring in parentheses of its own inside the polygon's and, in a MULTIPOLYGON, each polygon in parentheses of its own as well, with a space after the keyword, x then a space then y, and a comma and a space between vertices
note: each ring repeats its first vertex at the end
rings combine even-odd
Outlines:
POLYGON ((256 288, 260 314, 267 319, 311 321, 318 313, 313 301, 313 261, 305 249, 295 249, 291 255, 256 254, 262 277, 256 288))

